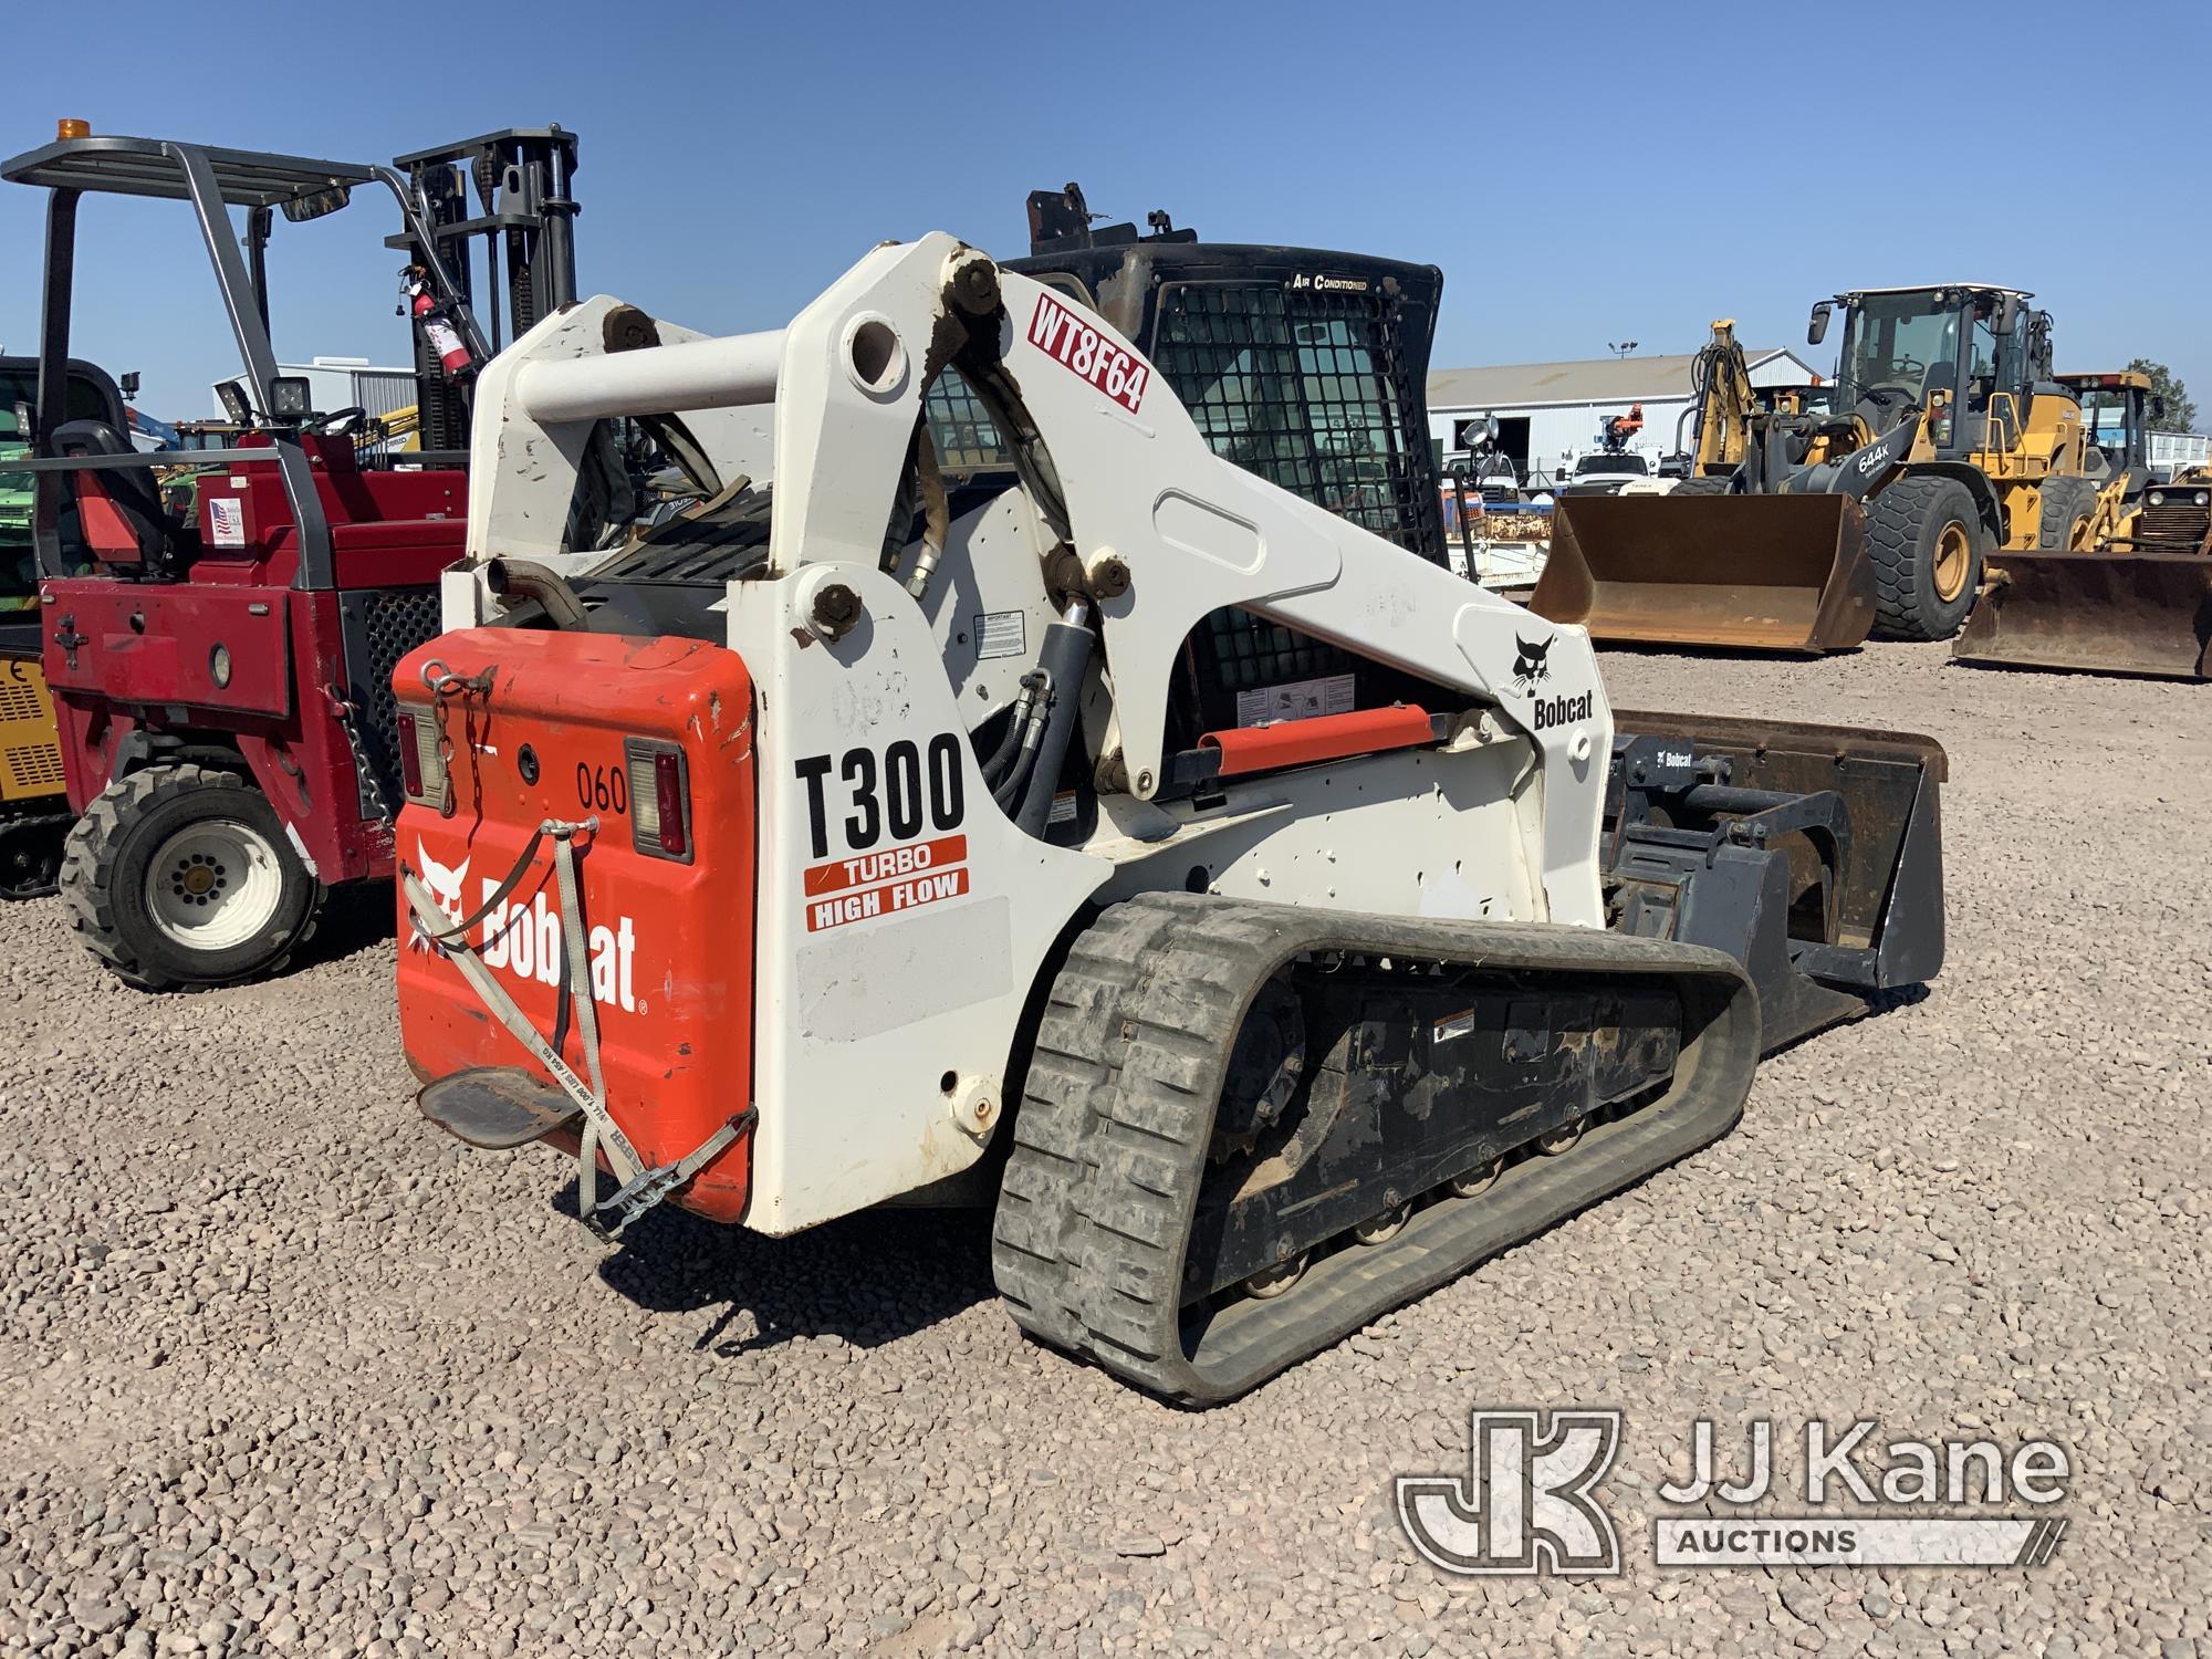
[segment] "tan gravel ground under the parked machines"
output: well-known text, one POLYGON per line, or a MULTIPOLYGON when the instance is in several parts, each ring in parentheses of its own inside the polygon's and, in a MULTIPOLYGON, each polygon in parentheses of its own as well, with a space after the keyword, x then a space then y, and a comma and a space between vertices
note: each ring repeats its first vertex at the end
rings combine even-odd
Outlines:
POLYGON ((1020 1340, 980 1217, 664 1214, 602 1259, 560 1157, 416 1119, 374 920, 159 1000, 0 909, 0 1652, 2212 1657, 2212 688, 1902 646, 1608 681, 1942 739, 1942 980, 1203 1416, 1020 1340), (1482 1405, 1628 1411, 1624 1577, 1411 1553, 1389 1478, 1464 1469, 1482 1405), (2039 1571, 1661 1575, 1701 1416, 2051 1436, 2070 1531, 2039 1571))

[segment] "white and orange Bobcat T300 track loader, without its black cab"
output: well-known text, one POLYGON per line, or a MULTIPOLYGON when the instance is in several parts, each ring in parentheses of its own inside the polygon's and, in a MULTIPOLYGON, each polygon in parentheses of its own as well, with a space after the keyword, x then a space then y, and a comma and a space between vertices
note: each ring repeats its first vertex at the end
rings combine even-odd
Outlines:
POLYGON ((1203 1402, 1929 978, 1942 754, 1617 728, 1582 628, 1225 460, 1088 292, 929 234, 781 332, 595 299, 487 369, 400 1009, 425 1115, 575 1152, 602 1232, 980 1192, 1029 1332, 1203 1402), (1004 469, 940 465, 949 374, 1004 469), (597 420, 712 471, 768 405, 772 487, 562 551, 597 420), (1354 672, 1221 697, 1223 611, 1354 672))

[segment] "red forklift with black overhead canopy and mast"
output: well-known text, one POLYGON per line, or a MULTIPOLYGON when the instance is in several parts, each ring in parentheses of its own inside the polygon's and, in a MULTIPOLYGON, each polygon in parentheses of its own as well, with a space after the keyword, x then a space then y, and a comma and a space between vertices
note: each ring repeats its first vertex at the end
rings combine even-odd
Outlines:
MULTIPOLYGON (((69 807, 69 925, 148 991, 274 973, 345 883, 389 880, 407 761, 392 668, 438 633, 467 535, 476 369, 575 299, 577 139, 509 128, 389 168, 170 139, 62 137, 0 164, 49 190, 35 476, 38 626, 69 807), (270 341, 268 243, 356 190, 389 195, 405 257, 418 451, 376 414, 316 409, 270 341), (471 190, 476 204, 471 206, 471 190), (139 453, 71 405, 77 204, 190 204, 243 361, 237 438, 139 453), (237 215, 237 217, 232 217, 237 215), (478 274, 489 296, 478 305, 478 274), (502 274, 504 272, 504 274, 502 274), (168 465, 190 462, 190 489, 168 465)), ((398 411, 392 411, 398 414, 398 411)))

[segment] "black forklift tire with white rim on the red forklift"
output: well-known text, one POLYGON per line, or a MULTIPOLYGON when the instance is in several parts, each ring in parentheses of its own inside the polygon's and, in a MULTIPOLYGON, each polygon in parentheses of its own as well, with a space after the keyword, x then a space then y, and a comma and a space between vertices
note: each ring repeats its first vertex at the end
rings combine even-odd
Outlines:
POLYGON ((237 772, 148 765, 84 810, 62 854, 84 947, 139 991, 274 973, 314 929, 321 887, 237 772))

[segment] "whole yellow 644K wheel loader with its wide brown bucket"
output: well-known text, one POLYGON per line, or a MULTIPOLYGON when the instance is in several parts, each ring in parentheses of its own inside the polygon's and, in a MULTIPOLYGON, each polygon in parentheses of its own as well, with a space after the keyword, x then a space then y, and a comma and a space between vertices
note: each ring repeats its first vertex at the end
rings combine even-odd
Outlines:
POLYGON ((1796 396, 1761 396, 1714 323, 1692 478, 1663 498, 1562 502, 1533 608, 1624 641, 1949 639, 1984 557, 2037 546, 2046 487, 2088 478, 2081 405, 2051 380, 2051 314, 2028 299, 1949 283, 1820 301, 1805 338, 1843 307, 1836 385, 1796 396))

